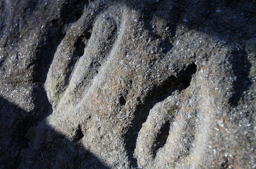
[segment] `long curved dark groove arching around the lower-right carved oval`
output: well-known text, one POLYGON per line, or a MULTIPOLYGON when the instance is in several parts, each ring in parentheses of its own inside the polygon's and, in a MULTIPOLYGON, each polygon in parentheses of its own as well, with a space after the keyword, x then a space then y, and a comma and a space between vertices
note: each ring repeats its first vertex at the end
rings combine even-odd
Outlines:
POLYGON ((192 63, 183 72, 179 73, 178 77, 170 76, 162 85, 153 87, 145 97, 144 103, 137 106, 131 127, 125 133, 125 149, 128 152, 128 158, 132 167, 137 167, 137 160, 133 156, 134 149, 136 147, 138 133, 142 124, 146 121, 149 111, 156 103, 171 96, 175 90, 184 90, 189 87, 192 75, 195 72, 196 65, 192 63))

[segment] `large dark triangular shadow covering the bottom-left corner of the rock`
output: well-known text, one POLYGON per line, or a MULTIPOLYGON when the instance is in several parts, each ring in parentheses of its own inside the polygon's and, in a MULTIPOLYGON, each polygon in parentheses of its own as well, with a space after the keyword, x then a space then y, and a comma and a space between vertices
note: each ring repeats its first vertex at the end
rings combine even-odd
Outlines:
POLYGON ((0 107, 1 169, 108 169, 79 142, 68 140, 44 121, 31 127, 33 116, 15 104, 0 97, 0 107))

